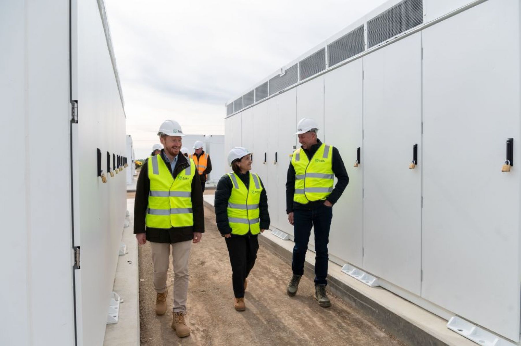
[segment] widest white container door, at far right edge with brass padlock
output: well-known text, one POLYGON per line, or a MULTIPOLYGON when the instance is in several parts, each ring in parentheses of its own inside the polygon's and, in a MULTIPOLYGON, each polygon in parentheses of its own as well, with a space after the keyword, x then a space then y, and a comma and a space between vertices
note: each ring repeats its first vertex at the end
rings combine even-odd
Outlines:
POLYGON ((519 13, 517 0, 488 1, 423 34, 421 296, 515 342, 519 13), (514 165, 505 173, 507 138, 514 138, 514 165))

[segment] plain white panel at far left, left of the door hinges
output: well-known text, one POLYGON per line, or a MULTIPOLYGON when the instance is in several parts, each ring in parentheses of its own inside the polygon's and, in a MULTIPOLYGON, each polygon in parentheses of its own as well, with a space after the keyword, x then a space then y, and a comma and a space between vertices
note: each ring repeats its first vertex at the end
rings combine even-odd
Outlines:
POLYGON ((1 8, 1 343, 73 345, 69 1, 1 8))

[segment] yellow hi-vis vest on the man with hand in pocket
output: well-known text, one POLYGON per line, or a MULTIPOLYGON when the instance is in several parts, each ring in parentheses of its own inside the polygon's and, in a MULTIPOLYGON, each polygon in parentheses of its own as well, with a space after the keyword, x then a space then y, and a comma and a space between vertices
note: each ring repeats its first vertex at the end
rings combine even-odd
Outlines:
POLYGON ((295 194, 293 200, 307 204, 309 201, 325 200, 333 190, 333 146, 323 144, 311 161, 301 148, 293 152, 291 164, 295 169, 295 194))

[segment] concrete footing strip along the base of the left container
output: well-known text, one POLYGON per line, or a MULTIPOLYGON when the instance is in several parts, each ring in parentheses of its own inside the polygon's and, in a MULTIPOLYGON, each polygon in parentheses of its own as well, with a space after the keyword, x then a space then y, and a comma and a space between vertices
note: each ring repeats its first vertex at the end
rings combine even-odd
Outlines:
POLYGON ((140 344, 138 243, 134 236, 133 199, 127 199, 127 210, 130 211, 130 216, 127 216, 130 225, 123 229, 121 241, 127 246, 128 253, 118 259, 113 289, 123 299, 123 303, 119 304, 118 323, 108 324, 105 329, 104 346, 140 344))

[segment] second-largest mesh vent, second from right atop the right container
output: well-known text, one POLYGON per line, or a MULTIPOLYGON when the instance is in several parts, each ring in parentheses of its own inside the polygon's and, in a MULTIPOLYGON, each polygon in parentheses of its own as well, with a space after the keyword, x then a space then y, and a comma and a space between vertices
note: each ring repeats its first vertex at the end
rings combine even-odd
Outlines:
POLYGON ((337 41, 329 44, 327 46, 329 66, 336 65, 340 61, 364 52, 364 41, 364 25, 362 24, 340 37, 337 41))

